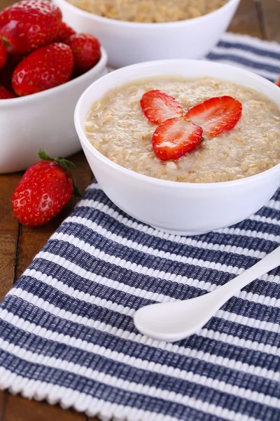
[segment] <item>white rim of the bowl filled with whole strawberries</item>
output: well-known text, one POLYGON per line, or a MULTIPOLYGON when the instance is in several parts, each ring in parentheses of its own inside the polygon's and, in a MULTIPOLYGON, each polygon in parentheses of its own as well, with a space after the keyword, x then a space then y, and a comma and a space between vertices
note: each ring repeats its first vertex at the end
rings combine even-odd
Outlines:
POLYGON ((22 97, 16 97, 16 98, 8 98, 5 100, 0 99, 0 108, 7 106, 12 106, 16 104, 22 104, 24 105, 25 102, 31 102, 32 100, 40 100, 41 98, 47 98, 48 96, 52 95, 52 93, 62 93, 64 90, 66 91, 69 86, 76 86, 78 83, 86 80, 87 78, 91 78, 95 74, 98 74, 99 72, 102 72, 102 70, 106 67, 108 60, 108 55, 103 47, 101 47, 101 57, 99 59, 99 62, 97 62, 92 69, 87 70, 87 72, 81 74, 80 76, 77 76, 75 79, 71 79, 70 81, 66 83, 62 83, 62 85, 54 86, 53 88, 46 89, 45 91, 33 93, 31 95, 25 95, 22 97))

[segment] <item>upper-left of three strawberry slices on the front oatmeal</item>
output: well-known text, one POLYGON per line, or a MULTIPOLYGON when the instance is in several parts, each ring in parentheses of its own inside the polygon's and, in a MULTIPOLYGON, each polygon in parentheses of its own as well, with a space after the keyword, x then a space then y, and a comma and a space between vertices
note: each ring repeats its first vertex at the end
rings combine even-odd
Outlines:
POLYGON ((179 102, 157 89, 144 93, 140 105, 147 119, 154 124, 161 124, 167 119, 183 115, 183 109, 179 102))

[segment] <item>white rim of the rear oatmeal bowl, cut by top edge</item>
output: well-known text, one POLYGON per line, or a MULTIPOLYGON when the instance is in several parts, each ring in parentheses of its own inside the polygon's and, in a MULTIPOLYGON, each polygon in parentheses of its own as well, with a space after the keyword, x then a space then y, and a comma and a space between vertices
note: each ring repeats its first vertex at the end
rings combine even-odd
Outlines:
POLYGON ((84 11, 81 8, 78 8, 77 6, 74 6, 73 4, 69 3, 69 1, 67 0, 53 0, 55 4, 64 4, 65 7, 69 7, 70 10, 74 11, 75 13, 78 13, 79 15, 82 16, 90 16, 93 20, 97 20, 97 22, 105 22, 109 25, 113 24, 116 26, 121 26, 121 27, 134 27, 134 28, 143 28, 143 29, 148 29, 148 28, 163 28, 166 29, 166 27, 180 27, 180 26, 184 26, 186 25, 186 22, 190 22, 190 25, 193 25, 193 23, 196 22, 200 22, 203 23, 204 20, 206 20, 208 18, 208 16, 210 15, 214 15, 216 13, 220 13, 221 10, 226 10, 227 8, 230 8, 232 4, 239 4, 240 0, 227 0, 227 2, 219 7, 218 9, 210 12, 210 13, 206 13, 206 15, 202 15, 202 16, 197 16, 197 18, 190 18, 190 19, 184 19, 184 20, 176 20, 174 22, 130 22, 127 20, 118 20, 118 19, 111 19, 111 18, 106 18, 104 16, 99 16, 96 15, 95 13, 91 13, 91 12, 87 12, 84 11))

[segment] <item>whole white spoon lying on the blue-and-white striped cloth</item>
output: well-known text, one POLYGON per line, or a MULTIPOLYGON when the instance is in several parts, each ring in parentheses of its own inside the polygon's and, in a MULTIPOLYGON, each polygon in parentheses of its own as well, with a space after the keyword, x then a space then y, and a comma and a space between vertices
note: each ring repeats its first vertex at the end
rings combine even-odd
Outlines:
POLYGON ((134 314, 139 332, 150 338, 175 342, 202 328, 238 290, 280 265, 280 246, 242 274, 211 293, 190 300, 151 304, 134 314))

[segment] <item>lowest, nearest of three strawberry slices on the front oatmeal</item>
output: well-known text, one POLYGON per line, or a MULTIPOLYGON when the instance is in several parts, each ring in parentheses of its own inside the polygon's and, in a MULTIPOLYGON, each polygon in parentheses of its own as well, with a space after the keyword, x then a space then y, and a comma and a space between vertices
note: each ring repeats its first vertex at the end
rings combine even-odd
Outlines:
POLYGON ((179 159, 202 140, 202 128, 184 117, 166 120, 153 134, 153 150, 162 161, 179 159))

